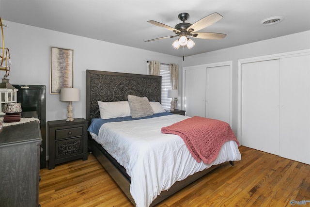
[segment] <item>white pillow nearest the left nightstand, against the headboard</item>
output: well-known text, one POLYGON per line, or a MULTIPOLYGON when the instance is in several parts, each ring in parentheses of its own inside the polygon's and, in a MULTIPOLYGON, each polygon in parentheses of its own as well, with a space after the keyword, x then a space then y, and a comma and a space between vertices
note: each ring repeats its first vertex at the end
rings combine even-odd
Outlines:
POLYGON ((110 119, 117 117, 130 116, 128 101, 102 102, 98 101, 100 117, 110 119))

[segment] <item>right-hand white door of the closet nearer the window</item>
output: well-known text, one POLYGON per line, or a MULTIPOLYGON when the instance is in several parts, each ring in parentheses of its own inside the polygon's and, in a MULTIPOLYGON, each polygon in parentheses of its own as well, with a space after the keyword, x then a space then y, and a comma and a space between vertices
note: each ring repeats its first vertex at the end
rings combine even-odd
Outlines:
POLYGON ((230 123, 230 66, 207 68, 206 117, 230 123))

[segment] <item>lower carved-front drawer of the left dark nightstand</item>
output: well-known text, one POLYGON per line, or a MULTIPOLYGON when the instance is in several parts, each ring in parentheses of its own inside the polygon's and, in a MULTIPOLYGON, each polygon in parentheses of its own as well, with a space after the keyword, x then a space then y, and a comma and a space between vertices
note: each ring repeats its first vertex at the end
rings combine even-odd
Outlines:
POLYGON ((55 142, 55 159, 83 154, 83 137, 55 142))

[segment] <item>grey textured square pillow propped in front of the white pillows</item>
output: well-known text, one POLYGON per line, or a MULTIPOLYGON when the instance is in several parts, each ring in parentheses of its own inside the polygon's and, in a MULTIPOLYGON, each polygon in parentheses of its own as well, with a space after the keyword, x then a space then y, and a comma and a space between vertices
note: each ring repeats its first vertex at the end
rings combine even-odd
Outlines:
POLYGON ((132 118, 151 116, 154 111, 147 97, 128 95, 130 114, 132 118))

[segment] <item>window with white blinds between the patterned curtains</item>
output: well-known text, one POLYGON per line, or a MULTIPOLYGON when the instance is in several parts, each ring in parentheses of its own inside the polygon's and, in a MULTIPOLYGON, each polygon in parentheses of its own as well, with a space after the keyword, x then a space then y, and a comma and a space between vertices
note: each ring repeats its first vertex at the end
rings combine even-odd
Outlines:
POLYGON ((168 90, 172 89, 169 65, 161 64, 159 75, 161 76, 161 105, 164 109, 170 109, 171 98, 167 97, 168 90))

